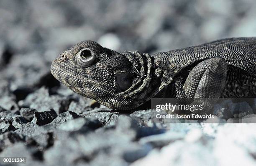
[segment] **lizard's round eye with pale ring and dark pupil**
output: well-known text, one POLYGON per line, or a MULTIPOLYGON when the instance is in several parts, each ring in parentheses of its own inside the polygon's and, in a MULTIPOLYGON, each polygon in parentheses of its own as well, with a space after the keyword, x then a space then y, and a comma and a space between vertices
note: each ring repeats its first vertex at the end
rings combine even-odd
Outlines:
POLYGON ((78 63, 84 67, 92 65, 96 60, 96 56, 91 49, 82 49, 77 54, 78 63))

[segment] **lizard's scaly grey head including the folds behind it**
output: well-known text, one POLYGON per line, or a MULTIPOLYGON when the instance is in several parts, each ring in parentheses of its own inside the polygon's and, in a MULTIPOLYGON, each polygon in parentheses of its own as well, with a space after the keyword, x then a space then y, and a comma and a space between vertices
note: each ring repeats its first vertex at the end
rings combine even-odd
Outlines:
POLYGON ((149 100, 151 58, 138 51, 120 54, 82 41, 59 54, 51 73, 74 92, 113 109, 131 110, 149 100))

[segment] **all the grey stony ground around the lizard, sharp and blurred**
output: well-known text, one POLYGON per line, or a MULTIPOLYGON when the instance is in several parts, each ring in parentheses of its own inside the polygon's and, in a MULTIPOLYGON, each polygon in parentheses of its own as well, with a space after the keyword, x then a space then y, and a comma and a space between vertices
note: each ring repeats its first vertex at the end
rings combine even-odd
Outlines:
MULTIPOLYGON (((256 36, 254 0, 0 1, 0 157, 26 165, 256 164, 256 100, 218 105, 221 123, 152 123, 74 94, 51 61, 82 40, 156 53, 256 36)), ((228 101, 229 103, 232 101, 228 101)), ((208 120, 207 122, 209 122, 208 120)))

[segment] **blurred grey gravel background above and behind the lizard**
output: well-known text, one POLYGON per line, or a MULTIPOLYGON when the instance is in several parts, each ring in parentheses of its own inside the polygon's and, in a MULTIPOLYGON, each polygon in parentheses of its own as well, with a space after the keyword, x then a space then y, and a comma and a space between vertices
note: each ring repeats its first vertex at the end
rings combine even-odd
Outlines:
POLYGON ((0 79, 13 91, 35 87, 83 40, 152 54, 256 36, 255 9, 255 0, 1 0, 0 79))

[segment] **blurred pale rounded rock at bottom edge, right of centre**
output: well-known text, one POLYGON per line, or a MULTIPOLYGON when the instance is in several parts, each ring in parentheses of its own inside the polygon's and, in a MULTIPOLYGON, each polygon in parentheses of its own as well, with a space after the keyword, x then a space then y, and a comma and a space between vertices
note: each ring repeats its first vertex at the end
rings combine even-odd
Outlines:
POLYGON ((208 166, 215 166, 215 158, 212 151, 200 142, 187 143, 177 140, 164 146, 160 150, 152 150, 144 158, 141 158, 131 166, 161 165, 161 166, 199 166, 207 163, 208 166))

